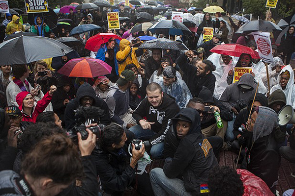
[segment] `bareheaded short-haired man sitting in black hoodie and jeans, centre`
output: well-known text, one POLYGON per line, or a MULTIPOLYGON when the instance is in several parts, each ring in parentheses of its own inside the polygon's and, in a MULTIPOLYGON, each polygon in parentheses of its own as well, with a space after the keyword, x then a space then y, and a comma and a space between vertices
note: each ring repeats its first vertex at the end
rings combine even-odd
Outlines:
POLYGON ((159 84, 148 85, 147 98, 142 100, 132 115, 138 125, 129 130, 135 134, 136 138, 148 140, 146 143, 151 146, 152 158, 163 157, 164 139, 169 130, 171 118, 178 111, 179 107, 175 99, 163 93, 159 84))

